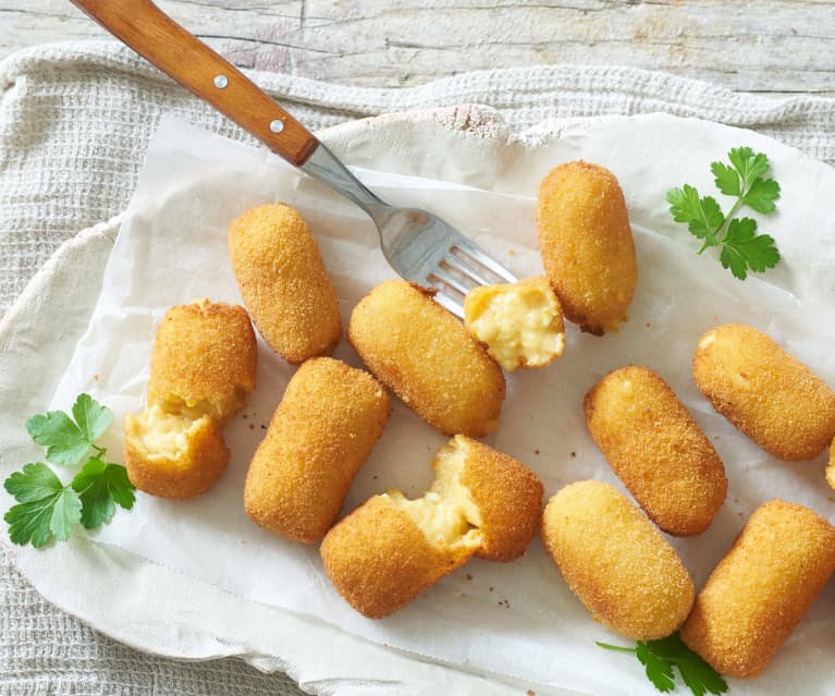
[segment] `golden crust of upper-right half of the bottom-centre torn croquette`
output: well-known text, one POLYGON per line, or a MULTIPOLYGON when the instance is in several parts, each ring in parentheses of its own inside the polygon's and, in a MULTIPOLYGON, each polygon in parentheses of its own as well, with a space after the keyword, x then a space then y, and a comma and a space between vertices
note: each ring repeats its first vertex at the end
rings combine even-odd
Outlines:
POLYGON ((523 555, 537 533, 542 481, 518 460, 465 436, 456 436, 447 447, 466 451, 461 483, 481 515, 476 555, 490 561, 523 555))

